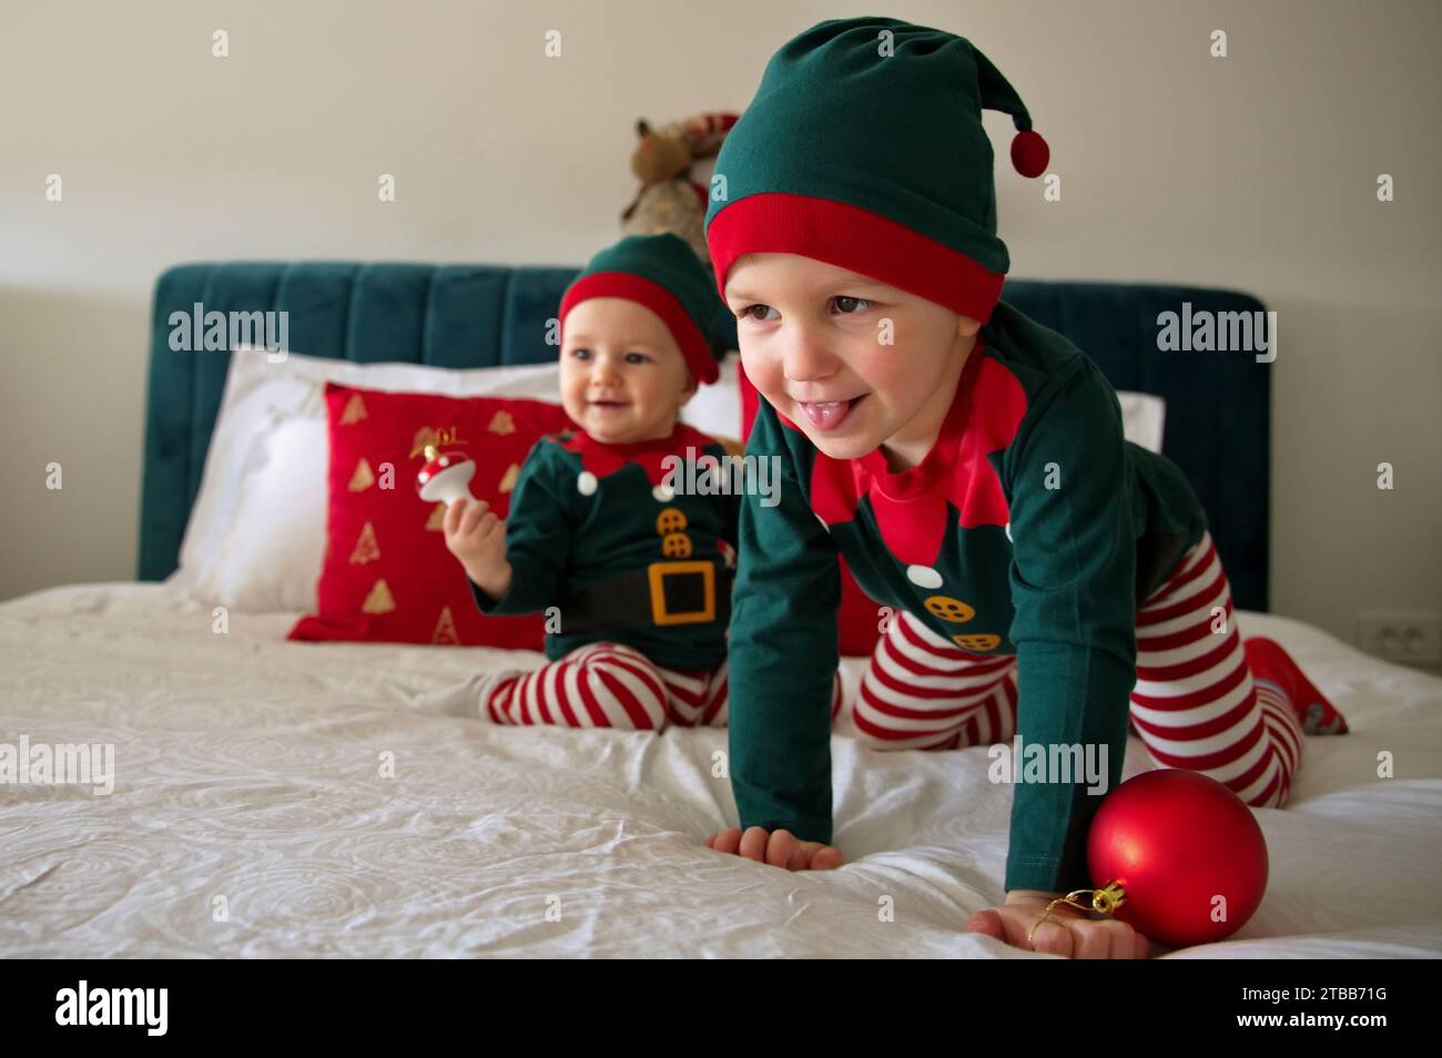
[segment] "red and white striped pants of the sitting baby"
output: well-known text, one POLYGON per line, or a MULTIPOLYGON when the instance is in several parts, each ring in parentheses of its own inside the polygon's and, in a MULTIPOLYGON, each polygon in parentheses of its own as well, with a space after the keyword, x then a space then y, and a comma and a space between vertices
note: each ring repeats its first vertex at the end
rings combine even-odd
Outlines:
MULTIPOLYGON (((479 682, 480 715, 493 724, 659 731, 725 726, 727 663, 668 669, 622 643, 591 643, 532 672, 479 682)), ((841 712, 841 673, 832 677, 831 716, 841 712)))

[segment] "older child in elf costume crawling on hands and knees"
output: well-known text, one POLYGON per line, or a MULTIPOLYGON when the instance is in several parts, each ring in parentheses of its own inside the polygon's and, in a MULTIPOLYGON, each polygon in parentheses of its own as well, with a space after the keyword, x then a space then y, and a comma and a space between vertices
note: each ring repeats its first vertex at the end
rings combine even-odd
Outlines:
MULTIPOLYGON (((999 300, 982 108, 1012 161, 1047 164, 1012 86, 968 40, 895 19, 823 22, 770 61, 717 160, 707 244, 761 402, 731 628, 741 829, 707 845, 833 868, 831 672, 838 555, 897 614, 854 705, 875 748, 1107 748, 1280 806, 1304 726, 1345 724, 1273 641, 1240 641, 1206 515, 1181 471, 1123 440, 1113 388, 999 300)), ((968 928, 1019 947, 1133 957, 1146 938, 1057 895, 1090 885, 1103 800, 1080 777, 1012 787, 1005 902, 968 928)), ((1105 793, 1105 791, 1103 791, 1105 793)))

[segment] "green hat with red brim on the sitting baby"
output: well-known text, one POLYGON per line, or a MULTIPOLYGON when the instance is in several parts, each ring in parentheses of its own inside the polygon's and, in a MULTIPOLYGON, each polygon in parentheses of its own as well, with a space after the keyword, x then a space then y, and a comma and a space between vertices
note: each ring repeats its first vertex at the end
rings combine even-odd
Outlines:
POLYGON ((698 383, 720 378, 707 330, 721 301, 696 251, 679 235, 629 235, 593 257, 561 298, 562 340, 567 313, 593 297, 623 297, 650 308, 666 324, 698 383))

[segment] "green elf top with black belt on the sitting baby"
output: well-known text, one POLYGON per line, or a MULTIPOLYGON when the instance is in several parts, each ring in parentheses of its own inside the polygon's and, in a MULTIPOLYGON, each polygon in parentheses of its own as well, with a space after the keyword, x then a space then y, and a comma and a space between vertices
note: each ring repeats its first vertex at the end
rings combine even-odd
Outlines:
MULTIPOLYGON (((545 639, 547 657, 559 660, 588 643, 624 643, 656 664, 711 669, 727 653, 727 618, 684 624, 650 621, 591 631, 567 631, 567 600, 587 585, 619 574, 646 572, 662 564, 714 565, 715 590, 724 591, 722 569, 734 565, 738 490, 707 492, 692 477, 725 458, 725 448, 688 425, 671 437, 632 444, 603 444, 581 430, 542 437, 531 448, 516 479, 506 516, 506 559, 510 588, 493 600, 470 582, 485 614, 531 614, 557 607, 559 631, 545 639), (686 474, 689 458, 701 464, 686 474), (666 457, 681 460, 668 461, 666 457), (668 479, 668 471, 676 473, 668 479), (678 487, 671 487, 675 481, 678 487)), ((733 483, 734 484, 734 483, 733 483)))

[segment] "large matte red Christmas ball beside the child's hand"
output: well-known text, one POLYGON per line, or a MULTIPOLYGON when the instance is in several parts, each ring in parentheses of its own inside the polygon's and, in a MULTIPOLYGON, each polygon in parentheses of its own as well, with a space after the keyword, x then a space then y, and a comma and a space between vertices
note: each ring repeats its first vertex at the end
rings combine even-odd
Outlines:
POLYGON ((1224 940, 1252 918, 1266 892, 1268 853, 1252 810, 1227 787, 1156 768, 1122 783, 1097 809, 1087 866, 1099 888, 1125 901, 1118 920, 1148 940, 1187 947, 1224 940))

